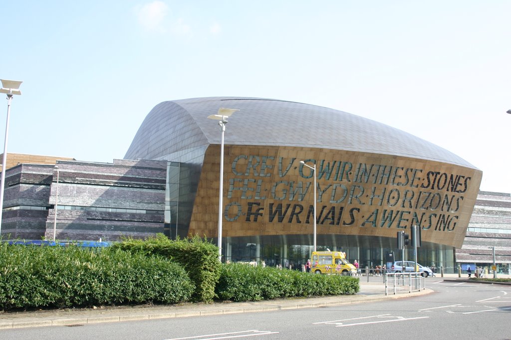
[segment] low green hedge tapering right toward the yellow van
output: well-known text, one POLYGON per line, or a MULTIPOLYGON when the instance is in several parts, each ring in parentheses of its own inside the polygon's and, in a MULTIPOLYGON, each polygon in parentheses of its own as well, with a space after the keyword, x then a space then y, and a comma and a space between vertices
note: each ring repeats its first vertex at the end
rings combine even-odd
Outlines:
POLYGON ((246 264, 222 265, 216 294, 220 300, 259 301, 285 297, 356 294, 359 279, 342 275, 316 275, 246 264))

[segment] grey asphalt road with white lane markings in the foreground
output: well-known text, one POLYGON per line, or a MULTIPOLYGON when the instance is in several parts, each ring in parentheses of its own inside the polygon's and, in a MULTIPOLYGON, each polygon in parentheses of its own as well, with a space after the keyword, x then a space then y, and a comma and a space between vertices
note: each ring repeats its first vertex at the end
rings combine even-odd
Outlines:
POLYGON ((432 293, 401 299, 381 298, 374 292, 366 296, 380 297, 379 301, 230 315, 5 329, 0 331, 0 336, 10 339, 511 338, 511 286, 430 278, 428 287, 432 293))

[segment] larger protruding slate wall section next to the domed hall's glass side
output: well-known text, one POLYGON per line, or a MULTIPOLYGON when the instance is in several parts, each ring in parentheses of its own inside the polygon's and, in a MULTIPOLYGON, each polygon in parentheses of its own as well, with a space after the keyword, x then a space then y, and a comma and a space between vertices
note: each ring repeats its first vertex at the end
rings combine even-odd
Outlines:
MULTIPOLYGON (((85 163, 59 161, 56 239, 118 240, 143 238, 164 228, 165 161, 85 163), (130 212, 120 210, 128 209, 130 212), (134 212, 137 210, 137 212, 134 212)), ((53 238, 57 170, 49 203, 45 237, 53 238)))

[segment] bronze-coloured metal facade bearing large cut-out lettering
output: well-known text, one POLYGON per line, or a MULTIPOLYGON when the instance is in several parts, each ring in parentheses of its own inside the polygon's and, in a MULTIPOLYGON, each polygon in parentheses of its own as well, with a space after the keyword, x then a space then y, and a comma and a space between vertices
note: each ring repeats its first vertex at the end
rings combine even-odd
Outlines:
MULTIPOLYGON (((206 151, 190 233, 215 237, 219 147, 206 151)), ((321 148, 225 148, 223 236, 317 235, 396 239, 419 224, 423 244, 460 247, 482 172, 441 162, 321 148)))

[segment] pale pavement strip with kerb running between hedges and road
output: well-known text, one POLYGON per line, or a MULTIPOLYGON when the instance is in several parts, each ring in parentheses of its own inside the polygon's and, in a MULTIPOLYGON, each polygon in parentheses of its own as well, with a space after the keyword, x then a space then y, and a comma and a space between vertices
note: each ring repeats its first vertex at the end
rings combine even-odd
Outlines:
POLYGON ((70 326, 101 322, 183 318, 206 315, 335 306, 350 303, 374 302, 386 299, 410 297, 429 294, 430 292, 430 290, 426 289, 425 291, 411 294, 385 296, 385 285, 383 284, 383 280, 381 282, 366 282, 365 277, 361 277, 360 292, 355 295, 277 299, 259 302, 231 302, 211 304, 189 303, 171 306, 120 306, 97 309, 80 308, 63 310, 38 310, 29 312, 8 312, 0 313, 0 329, 56 325, 70 326))

